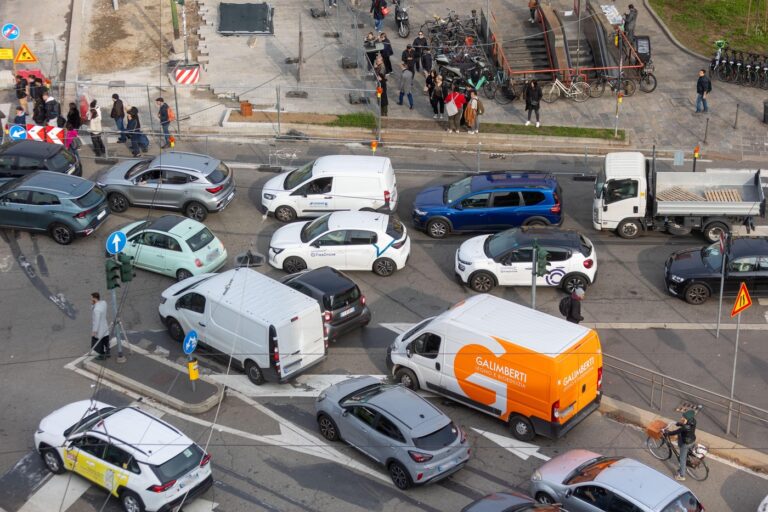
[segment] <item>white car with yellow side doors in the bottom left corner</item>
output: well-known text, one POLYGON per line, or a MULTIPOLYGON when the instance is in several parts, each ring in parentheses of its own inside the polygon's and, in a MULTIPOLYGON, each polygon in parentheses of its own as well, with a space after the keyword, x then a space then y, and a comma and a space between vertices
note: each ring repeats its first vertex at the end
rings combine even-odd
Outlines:
POLYGON ((170 511, 213 485, 211 456, 136 407, 83 400, 40 422, 35 448, 52 473, 73 471, 119 499, 126 512, 170 511))

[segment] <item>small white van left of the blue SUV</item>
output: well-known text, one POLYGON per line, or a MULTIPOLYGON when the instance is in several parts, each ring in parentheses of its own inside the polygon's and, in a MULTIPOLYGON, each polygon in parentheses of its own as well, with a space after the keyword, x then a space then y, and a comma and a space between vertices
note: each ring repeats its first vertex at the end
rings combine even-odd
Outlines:
POLYGON ((275 176, 261 192, 262 213, 281 222, 345 210, 394 212, 397 180, 389 158, 330 155, 275 176))

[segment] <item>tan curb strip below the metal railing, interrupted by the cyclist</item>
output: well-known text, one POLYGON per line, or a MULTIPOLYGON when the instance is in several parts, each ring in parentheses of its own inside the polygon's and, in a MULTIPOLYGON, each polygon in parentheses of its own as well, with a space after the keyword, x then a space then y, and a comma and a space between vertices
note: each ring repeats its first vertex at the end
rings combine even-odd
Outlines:
MULTIPOLYGON (((645 428, 653 420, 663 420, 670 422, 669 419, 658 415, 654 411, 646 411, 634 405, 620 402, 614 398, 603 396, 600 401, 599 411, 621 423, 629 423, 640 428, 645 428)), ((756 473, 768 473, 768 454, 742 446, 730 439, 715 436, 696 430, 697 440, 709 448, 709 453, 722 457, 756 473)))

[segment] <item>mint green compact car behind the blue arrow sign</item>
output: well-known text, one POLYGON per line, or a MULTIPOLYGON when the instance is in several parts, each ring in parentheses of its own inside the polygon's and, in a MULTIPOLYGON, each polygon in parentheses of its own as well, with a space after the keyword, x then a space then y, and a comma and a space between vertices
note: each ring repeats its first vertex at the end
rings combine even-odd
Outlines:
POLYGON ((180 215, 128 224, 120 231, 128 243, 123 252, 134 265, 150 272, 188 277, 215 272, 227 261, 227 250, 204 224, 180 215))

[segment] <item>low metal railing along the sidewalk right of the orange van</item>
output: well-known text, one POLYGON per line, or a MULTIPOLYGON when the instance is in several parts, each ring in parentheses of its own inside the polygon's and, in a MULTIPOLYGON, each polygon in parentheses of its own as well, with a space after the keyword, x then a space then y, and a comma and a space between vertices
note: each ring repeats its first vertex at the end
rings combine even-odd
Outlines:
MULTIPOLYGON (((736 432, 733 434, 735 437, 739 437, 742 417, 768 427, 768 410, 756 405, 729 398, 609 354, 603 354, 603 364, 606 368, 619 372, 622 376, 648 384, 651 388, 648 397, 648 405, 651 409, 662 410, 666 393, 686 400, 695 400, 715 410, 722 410, 725 415, 735 415, 736 432), (657 400, 658 405, 656 405, 657 400)), ((725 428, 725 433, 726 435, 731 433, 730 425, 725 428)))

